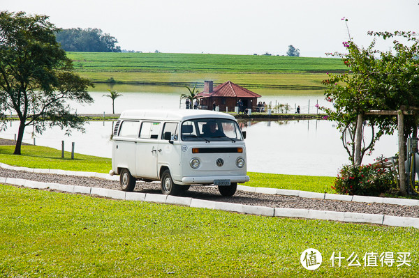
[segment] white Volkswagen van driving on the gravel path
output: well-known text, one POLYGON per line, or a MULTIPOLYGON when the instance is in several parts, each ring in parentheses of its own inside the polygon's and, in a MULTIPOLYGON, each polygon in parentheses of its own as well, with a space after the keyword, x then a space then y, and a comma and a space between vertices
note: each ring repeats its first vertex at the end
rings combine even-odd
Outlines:
POLYGON ((115 125, 112 171, 121 189, 136 180, 161 180, 163 194, 191 185, 218 185, 235 194, 247 176, 245 132, 231 115, 207 110, 128 110, 115 125))

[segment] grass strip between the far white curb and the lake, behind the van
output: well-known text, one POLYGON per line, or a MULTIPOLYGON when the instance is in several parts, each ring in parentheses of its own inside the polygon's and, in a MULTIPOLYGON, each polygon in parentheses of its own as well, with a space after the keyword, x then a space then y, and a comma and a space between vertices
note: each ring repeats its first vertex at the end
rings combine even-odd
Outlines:
MULTIPOLYGON (((15 146, 0 146, 0 162, 13 166, 63 169, 72 171, 88 171, 109 173, 112 169, 110 158, 91 155, 75 154, 71 160, 71 153, 66 152, 61 158, 61 150, 42 146, 22 146, 22 155, 13 155, 15 146)), ((311 177, 295 175, 279 175, 273 173, 249 173, 250 183, 254 187, 273 187, 290 190, 306 190, 314 192, 331 192, 332 177, 311 177)))

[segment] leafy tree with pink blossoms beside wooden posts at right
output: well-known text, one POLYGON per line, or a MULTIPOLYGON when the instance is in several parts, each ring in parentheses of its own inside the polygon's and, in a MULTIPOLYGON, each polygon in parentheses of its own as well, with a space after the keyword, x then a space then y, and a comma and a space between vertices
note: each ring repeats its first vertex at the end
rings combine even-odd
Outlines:
MULTIPOLYGON (((353 40, 344 42, 348 54, 332 55, 341 57, 348 72, 329 74, 323 82, 328 86, 326 99, 333 102, 333 108, 325 111, 341 129, 342 143, 355 165, 361 164, 362 157, 374 149, 382 134, 392 134, 397 128, 395 116, 374 116, 367 114, 368 111, 419 107, 419 41, 416 33, 369 32, 369 35, 384 40, 393 38, 392 50, 379 51, 375 48, 375 39, 367 48, 358 47, 353 40), (403 38, 405 43, 396 40, 397 37, 403 38), (363 144, 366 127, 372 129, 372 136, 363 144)), ((404 141, 409 135, 417 136, 418 124, 418 114, 405 117, 404 141)))

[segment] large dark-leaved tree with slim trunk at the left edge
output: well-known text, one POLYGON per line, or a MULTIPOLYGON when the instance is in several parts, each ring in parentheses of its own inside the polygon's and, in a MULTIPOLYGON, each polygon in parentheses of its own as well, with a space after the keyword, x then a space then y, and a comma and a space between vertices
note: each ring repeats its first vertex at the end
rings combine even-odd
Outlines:
POLYGON ((53 125, 66 133, 83 130, 84 120, 71 114, 66 101, 93 102, 87 93, 93 84, 73 72, 57 31, 46 15, 0 13, 0 104, 19 116, 16 155, 28 125, 37 133, 53 125))

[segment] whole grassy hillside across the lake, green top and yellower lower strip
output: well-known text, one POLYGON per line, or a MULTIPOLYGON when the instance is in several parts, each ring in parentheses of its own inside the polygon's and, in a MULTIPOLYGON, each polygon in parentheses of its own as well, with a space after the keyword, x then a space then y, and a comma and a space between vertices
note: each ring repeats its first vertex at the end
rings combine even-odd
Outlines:
POLYGON ((228 80, 249 88, 322 89, 325 72, 346 70, 340 59, 287 56, 68 52, 93 82, 193 86, 228 80))

